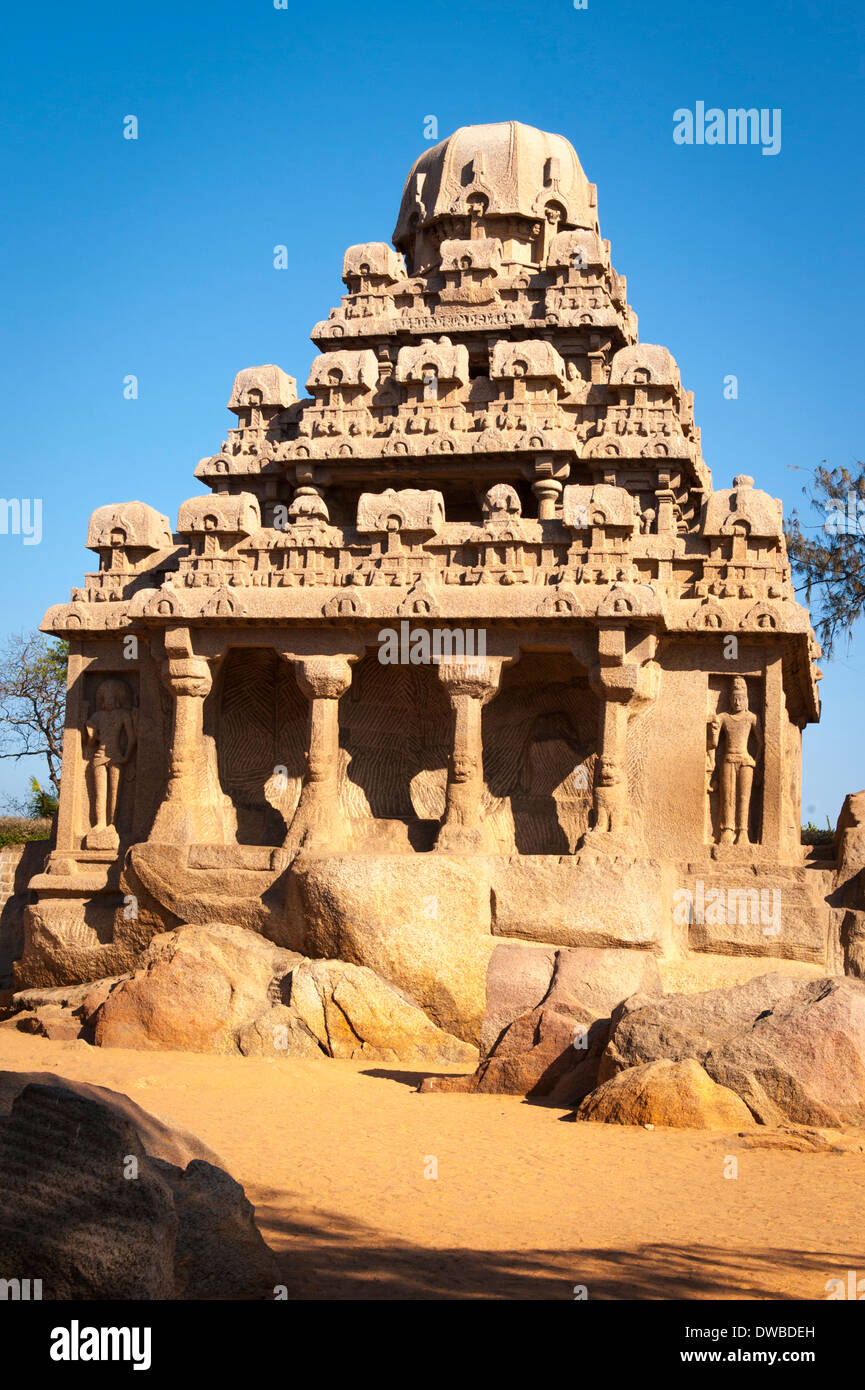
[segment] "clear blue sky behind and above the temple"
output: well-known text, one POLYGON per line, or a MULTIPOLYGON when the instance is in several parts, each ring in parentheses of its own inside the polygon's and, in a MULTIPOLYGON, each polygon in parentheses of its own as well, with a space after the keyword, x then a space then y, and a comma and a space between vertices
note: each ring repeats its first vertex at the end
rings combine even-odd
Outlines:
MULTIPOLYGON (((752 473, 790 507, 795 470, 855 463, 864 28, 850 0, 7 6, 1 491, 43 498, 45 535, 0 535, 3 632, 92 567, 95 506, 175 517, 199 491, 235 371, 306 379, 343 247, 389 239, 427 115, 442 138, 520 120, 572 140, 640 336, 695 392, 716 485, 752 473), (698 100, 779 107, 780 153, 673 143, 698 100)), ((834 821, 865 785, 864 673, 865 631, 826 666, 805 817, 834 821)), ((0 764, 0 794, 29 771, 0 764)))

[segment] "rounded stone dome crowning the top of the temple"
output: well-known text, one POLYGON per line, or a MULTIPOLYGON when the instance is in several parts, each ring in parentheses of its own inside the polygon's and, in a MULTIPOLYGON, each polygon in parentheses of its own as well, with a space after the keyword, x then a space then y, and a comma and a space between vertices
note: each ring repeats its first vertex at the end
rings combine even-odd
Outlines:
POLYGON ((417 271, 445 238, 501 236, 505 245, 542 249, 538 224, 553 235, 598 229, 595 186, 573 145, 520 121, 463 125, 412 165, 394 245, 417 271))

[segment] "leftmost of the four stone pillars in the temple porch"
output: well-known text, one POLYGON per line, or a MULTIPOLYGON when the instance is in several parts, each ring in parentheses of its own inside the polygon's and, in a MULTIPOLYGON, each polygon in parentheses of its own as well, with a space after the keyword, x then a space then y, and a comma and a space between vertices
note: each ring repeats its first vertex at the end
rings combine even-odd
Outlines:
POLYGON ((165 632, 163 681, 174 696, 168 785, 149 840, 170 845, 224 845, 236 830, 231 799, 220 788, 213 739, 204 735, 211 663, 192 653, 188 628, 165 632))

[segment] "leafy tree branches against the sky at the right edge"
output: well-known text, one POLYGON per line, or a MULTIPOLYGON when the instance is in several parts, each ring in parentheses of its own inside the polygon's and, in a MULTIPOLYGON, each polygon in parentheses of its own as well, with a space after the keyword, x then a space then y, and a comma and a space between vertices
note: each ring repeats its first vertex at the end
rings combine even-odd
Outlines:
POLYGON ((820 521, 804 527, 793 512, 786 528, 797 589, 809 605, 816 599, 815 630, 826 656, 865 609, 865 467, 857 470, 815 468, 802 493, 820 521))

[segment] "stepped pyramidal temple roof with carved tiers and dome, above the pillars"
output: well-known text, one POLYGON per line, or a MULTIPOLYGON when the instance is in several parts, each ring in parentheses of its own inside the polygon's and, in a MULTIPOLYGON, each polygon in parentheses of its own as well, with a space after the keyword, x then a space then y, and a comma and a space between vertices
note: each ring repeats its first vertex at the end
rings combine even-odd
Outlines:
POLYGON ((637 339, 567 140, 456 131, 413 165, 394 246, 346 250, 306 398, 280 367, 238 374, 236 427, 195 470, 213 495, 174 538, 143 503, 95 513, 100 571, 47 628, 609 612, 775 628, 798 635, 814 717, 780 503, 744 475, 712 491, 693 395, 637 339))

